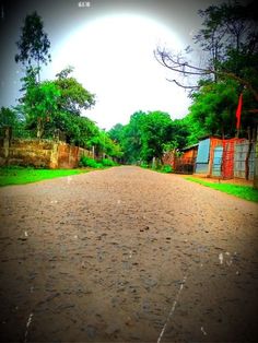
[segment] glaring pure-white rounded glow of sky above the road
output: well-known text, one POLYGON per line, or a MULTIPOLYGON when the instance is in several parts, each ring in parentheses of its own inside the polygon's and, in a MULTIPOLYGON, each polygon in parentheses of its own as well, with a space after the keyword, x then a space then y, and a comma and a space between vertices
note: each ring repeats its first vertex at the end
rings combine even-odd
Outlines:
POLYGON ((163 110, 180 118, 190 100, 185 90, 165 80, 172 72, 155 60, 157 44, 185 48, 169 27, 150 17, 103 15, 66 37, 51 52, 48 72, 55 75, 68 64, 74 67, 78 81, 96 94, 96 105, 85 115, 103 129, 127 123, 137 110, 163 110))

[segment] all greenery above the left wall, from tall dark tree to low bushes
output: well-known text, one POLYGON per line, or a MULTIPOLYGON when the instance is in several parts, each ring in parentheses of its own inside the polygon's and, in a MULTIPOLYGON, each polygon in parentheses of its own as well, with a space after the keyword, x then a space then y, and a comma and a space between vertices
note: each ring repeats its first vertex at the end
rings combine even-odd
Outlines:
POLYGON ((86 117, 96 95, 74 78, 73 67, 67 66, 52 80, 42 79, 43 67, 51 62, 51 44, 37 12, 26 15, 16 46, 15 61, 23 72, 20 98, 15 106, 0 108, 0 133, 11 127, 14 138, 59 137, 69 144, 94 150, 96 156, 119 158, 119 144, 86 117))

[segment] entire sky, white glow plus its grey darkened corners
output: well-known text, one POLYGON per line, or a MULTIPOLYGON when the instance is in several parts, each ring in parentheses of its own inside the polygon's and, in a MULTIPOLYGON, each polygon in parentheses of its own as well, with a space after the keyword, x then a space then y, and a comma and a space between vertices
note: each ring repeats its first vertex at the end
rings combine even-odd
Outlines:
MULTIPOLYGON (((126 125, 138 111, 162 110, 172 119, 188 114, 187 91, 166 79, 172 71, 159 64, 153 51, 165 46, 184 51, 201 27, 199 9, 220 0, 0 0, 0 107, 14 106, 21 96, 22 66, 15 63, 24 19, 33 11, 43 17, 50 40, 51 62, 42 79, 52 80, 68 66, 96 96, 83 115, 102 129, 126 125)), ((199 50, 198 64, 203 60, 199 50)))

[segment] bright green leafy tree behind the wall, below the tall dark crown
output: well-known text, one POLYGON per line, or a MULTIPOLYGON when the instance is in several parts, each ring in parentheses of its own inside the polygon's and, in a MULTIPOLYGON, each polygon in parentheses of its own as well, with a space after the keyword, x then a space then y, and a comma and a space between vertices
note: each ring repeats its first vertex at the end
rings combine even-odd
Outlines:
POLYGON ((24 95, 20 110, 26 117, 26 128, 35 129, 39 138, 60 130, 68 143, 87 147, 98 134, 98 128, 80 114, 94 104, 94 96, 75 79, 68 78, 69 72, 70 69, 63 70, 58 80, 37 83, 35 69, 27 69, 22 79, 24 95))

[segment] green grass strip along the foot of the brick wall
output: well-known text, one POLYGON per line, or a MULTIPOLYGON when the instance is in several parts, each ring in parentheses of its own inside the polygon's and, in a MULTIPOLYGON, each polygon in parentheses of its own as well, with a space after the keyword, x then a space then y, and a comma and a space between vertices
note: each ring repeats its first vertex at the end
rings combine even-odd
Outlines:
POLYGON ((89 169, 34 169, 25 167, 1 167, 0 187, 24 185, 46 179, 87 173, 89 169))

